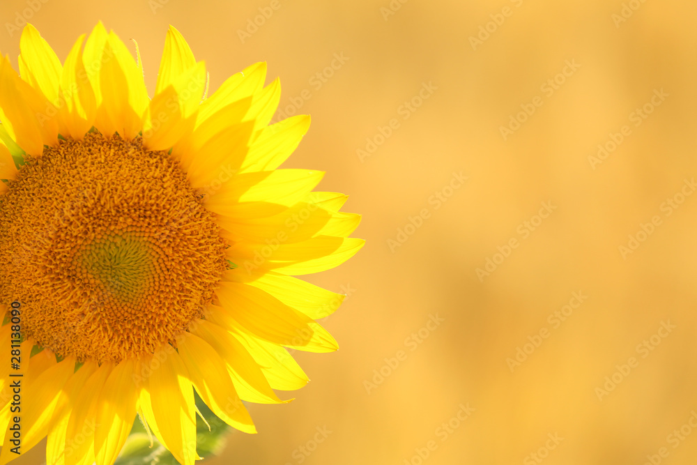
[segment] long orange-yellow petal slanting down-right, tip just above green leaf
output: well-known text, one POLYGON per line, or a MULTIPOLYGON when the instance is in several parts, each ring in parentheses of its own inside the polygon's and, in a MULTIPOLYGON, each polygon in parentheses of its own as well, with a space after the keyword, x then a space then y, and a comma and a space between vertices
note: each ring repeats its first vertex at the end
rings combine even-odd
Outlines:
POLYGON ((250 414, 235 392, 225 362, 215 349, 193 334, 187 334, 177 345, 194 387, 210 410, 231 427, 256 433, 250 414))

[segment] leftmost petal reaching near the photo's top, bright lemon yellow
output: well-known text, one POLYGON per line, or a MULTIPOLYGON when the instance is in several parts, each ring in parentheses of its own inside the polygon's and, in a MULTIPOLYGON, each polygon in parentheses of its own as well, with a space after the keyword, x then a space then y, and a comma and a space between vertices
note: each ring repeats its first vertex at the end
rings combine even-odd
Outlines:
MULTIPOLYGON (((29 82, 38 91, 52 102, 59 105, 58 87, 63 73, 61 61, 56 52, 41 37, 39 31, 31 24, 24 26, 20 38, 20 58, 29 73, 26 82, 29 82)), ((24 73, 22 73, 24 77, 24 73)))

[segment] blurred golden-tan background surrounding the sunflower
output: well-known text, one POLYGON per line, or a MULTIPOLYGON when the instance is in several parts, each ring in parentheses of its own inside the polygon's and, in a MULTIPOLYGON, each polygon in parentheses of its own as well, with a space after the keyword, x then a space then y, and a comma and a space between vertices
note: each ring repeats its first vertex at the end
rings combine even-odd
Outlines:
POLYGON ((210 465, 697 459, 694 1, 3 0, 0 19, 15 64, 15 24, 64 59, 103 20, 151 93, 169 24, 211 90, 268 61, 313 118, 285 166, 364 215, 365 249, 307 277, 348 294, 324 322, 341 350, 296 353, 312 383, 250 405, 259 434, 210 465))

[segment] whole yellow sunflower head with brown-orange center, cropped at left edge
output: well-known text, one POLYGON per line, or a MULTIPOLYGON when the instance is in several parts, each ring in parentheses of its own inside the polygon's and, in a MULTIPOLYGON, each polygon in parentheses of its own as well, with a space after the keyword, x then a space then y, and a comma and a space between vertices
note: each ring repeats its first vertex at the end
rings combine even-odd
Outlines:
POLYGON ((270 124, 265 63, 207 96, 173 27, 153 98, 101 23, 62 65, 31 25, 20 52, 21 77, 0 58, 0 465, 45 436, 49 465, 113 464, 138 416, 192 464, 194 391, 256 432, 243 401, 308 381, 288 349, 338 348, 315 320, 344 296, 295 276, 363 245, 322 172, 277 169, 309 116, 270 124))

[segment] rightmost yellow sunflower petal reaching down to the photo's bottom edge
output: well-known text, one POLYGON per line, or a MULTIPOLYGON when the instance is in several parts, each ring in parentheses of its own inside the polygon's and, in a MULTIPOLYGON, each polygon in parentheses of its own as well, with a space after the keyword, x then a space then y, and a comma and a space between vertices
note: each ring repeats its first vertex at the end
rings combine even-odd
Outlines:
POLYGON ((181 464, 192 465, 197 457, 194 390, 179 354, 171 351, 162 358, 148 379, 153 416, 172 455, 181 464))

